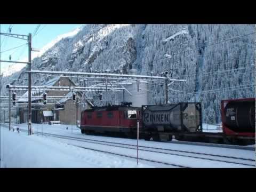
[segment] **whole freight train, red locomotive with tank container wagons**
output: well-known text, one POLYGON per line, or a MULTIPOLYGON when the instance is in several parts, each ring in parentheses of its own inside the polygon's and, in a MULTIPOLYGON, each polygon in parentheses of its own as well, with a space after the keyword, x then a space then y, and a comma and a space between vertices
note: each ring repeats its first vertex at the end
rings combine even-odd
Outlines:
POLYGON ((166 105, 94 107, 81 114, 81 132, 154 141, 183 141, 255 144, 255 98, 221 101, 223 133, 203 132, 199 102, 166 105))

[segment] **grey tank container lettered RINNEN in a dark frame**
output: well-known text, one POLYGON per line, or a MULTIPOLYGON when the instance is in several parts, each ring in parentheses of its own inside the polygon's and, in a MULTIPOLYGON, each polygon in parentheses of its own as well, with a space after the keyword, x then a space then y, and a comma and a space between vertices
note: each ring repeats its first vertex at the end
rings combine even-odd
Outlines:
POLYGON ((142 106, 142 124, 149 132, 202 132, 201 103, 142 106))

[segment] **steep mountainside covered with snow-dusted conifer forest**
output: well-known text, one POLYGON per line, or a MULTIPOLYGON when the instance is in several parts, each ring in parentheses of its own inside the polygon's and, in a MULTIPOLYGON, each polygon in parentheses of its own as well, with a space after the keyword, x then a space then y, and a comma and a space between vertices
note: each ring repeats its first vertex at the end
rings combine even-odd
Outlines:
MULTIPOLYGON (((255 25, 85 25, 35 58, 32 69, 120 69, 124 74, 137 69, 156 76, 167 70, 172 78, 187 79, 171 84, 169 102, 202 102, 203 122, 219 123, 221 100, 255 97, 255 25)), ((10 79, 27 85, 25 70, 3 74, 1 95, 10 79)), ((50 78, 33 75, 33 85, 50 78)), ((148 89, 149 104, 165 102, 164 82, 150 83, 148 89)), ((94 98, 98 105, 122 101, 117 93, 103 95, 102 101, 94 98)))

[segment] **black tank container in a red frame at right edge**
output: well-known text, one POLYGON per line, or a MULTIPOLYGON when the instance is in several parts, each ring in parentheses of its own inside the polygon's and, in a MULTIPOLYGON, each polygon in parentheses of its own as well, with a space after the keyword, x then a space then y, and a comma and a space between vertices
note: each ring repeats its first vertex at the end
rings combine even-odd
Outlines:
POLYGON ((223 134, 231 142, 255 141, 255 98, 221 101, 223 134))

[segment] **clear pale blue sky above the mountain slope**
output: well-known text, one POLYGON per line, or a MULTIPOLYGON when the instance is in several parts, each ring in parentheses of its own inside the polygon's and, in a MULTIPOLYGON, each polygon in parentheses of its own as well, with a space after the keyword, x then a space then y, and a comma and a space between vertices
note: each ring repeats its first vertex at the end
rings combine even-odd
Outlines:
MULTIPOLYGON (((58 35, 68 33, 82 25, 70 24, 41 24, 37 30, 37 34, 33 37, 36 27, 38 24, 14 24, 14 25, 1 25, 1 33, 6 33, 9 27, 12 27, 12 34, 22 34, 28 35, 28 33, 32 34, 32 47, 35 49, 41 49, 47 43, 53 41, 58 35)), ((9 33, 9 30, 8 30, 9 33)), ((9 55, 11 54, 12 61, 22 60, 28 58, 28 46, 23 45, 27 42, 22 39, 12 38, 12 37, 4 37, 0 35, 0 46, 1 46, 1 60, 9 60, 9 55), (4 40, 4 41, 3 41, 4 40), (13 49, 10 51, 3 52, 5 50, 12 49, 13 47, 17 47, 23 45, 17 49, 13 49), (3 53, 2 53, 3 52, 3 53)), ((1 70, 3 68, 12 65, 12 63, 4 63, 1 62, 1 70)), ((2 71, 1 71, 2 73, 2 71)))

